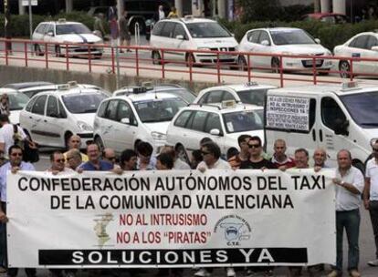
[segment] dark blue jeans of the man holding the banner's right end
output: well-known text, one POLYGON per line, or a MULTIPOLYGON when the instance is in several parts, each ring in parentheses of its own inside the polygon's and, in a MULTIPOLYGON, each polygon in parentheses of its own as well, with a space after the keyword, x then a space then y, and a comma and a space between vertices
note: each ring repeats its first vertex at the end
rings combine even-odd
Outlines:
POLYGON ((348 271, 357 270, 360 259, 358 238, 360 234, 360 210, 336 211, 336 270, 342 272, 342 237, 348 239, 348 271))

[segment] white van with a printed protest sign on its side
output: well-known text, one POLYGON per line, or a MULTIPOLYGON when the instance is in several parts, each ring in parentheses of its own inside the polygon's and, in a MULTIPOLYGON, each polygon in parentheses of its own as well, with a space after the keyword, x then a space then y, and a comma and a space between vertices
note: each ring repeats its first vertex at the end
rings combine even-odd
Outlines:
POLYGON ((378 139, 378 87, 317 85, 270 89, 265 109, 267 151, 285 139, 288 153, 323 148, 328 165, 337 166, 337 152, 349 149, 353 165, 363 169, 378 139))

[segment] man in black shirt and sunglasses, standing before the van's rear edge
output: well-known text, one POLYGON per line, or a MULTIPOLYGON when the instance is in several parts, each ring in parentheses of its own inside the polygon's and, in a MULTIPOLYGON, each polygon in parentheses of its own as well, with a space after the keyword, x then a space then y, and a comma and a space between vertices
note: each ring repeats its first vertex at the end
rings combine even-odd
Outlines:
POLYGON ((240 169, 276 169, 276 166, 262 156, 261 139, 257 136, 248 140, 249 159, 243 160, 240 169))

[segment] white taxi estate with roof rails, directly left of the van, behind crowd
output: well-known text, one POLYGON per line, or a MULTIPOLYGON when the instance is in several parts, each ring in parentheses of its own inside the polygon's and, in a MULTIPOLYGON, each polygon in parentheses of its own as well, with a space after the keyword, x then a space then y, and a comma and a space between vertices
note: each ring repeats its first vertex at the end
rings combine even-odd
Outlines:
POLYGON ((178 151, 181 159, 188 160, 188 154, 199 149, 199 141, 208 137, 226 155, 228 149, 239 149, 237 138, 241 134, 258 136, 264 141, 263 128, 262 107, 236 104, 233 100, 222 105, 192 104, 173 118, 167 129, 167 144, 178 151))

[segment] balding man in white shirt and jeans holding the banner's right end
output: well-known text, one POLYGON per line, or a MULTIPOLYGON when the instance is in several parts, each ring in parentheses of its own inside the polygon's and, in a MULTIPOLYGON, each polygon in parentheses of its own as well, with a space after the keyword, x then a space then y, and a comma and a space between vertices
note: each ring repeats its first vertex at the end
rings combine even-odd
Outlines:
POLYGON ((358 263, 360 250, 360 204, 363 190, 363 175, 352 167, 351 152, 342 149, 337 154, 338 169, 333 179, 336 190, 336 266, 328 277, 342 274, 342 235, 345 228, 348 237, 348 271, 352 277, 360 277, 358 263))

